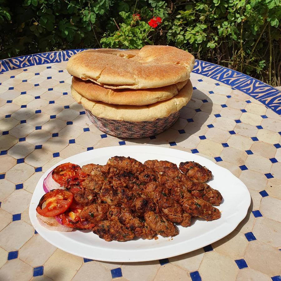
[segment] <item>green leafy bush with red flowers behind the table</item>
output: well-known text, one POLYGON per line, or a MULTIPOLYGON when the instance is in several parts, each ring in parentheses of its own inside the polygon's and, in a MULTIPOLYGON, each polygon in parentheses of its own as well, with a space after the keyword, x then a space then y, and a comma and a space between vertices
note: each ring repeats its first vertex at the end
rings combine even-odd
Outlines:
POLYGON ((279 0, 0 0, 0 57, 176 46, 280 85, 279 0))

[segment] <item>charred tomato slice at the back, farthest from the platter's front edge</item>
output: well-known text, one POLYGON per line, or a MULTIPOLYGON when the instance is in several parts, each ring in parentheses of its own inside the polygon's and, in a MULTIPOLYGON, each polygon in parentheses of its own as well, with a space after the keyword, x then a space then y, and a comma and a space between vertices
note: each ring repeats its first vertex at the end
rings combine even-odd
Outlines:
POLYGON ((63 186, 63 185, 65 185, 65 182, 68 178, 70 178, 74 175, 79 175, 81 173, 85 174, 82 172, 80 166, 72 164, 72 163, 64 163, 64 164, 58 165, 52 171, 52 178, 60 186, 63 186))

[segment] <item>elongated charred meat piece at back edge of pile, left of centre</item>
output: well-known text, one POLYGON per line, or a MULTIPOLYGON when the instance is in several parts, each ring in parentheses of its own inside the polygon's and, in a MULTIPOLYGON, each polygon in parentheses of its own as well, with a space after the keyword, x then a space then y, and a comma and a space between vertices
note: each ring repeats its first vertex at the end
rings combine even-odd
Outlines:
POLYGON ((144 166, 136 159, 124 156, 114 156, 108 159, 107 164, 112 165, 125 172, 138 175, 144 170, 144 166))

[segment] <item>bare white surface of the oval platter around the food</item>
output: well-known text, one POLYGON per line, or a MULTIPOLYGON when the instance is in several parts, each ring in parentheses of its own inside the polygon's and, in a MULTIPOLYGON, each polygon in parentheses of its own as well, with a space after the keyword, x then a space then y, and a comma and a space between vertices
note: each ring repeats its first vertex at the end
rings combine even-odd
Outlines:
MULTIPOLYGON (((211 186, 212 181, 213 180, 210 182, 211 186)), ((249 191, 242 181, 235 177, 229 170, 216 165, 211 160, 196 154, 191 154, 171 148, 150 145, 124 145, 104 147, 82 152, 68 157, 67 159, 58 162, 56 165, 48 169, 38 181, 32 195, 29 207, 29 217, 33 227, 37 230, 37 232, 49 243, 59 249, 62 249, 63 251, 81 256, 83 258, 100 261, 140 262, 164 259, 185 254, 218 241, 219 239, 231 233, 244 219, 250 202, 251 197, 249 191), (98 238, 98 236, 95 234, 83 233, 80 231, 78 233, 76 233, 76 231, 51 231, 39 224, 36 218, 36 206, 44 194, 42 188, 43 180, 52 169, 54 169, 57 165, 66 162, 71 162, 78 165, 85 165, 87 163, 106 164, 107 159, 115 155, 131 156, 137 160, 141 160, 140 158, 143 158, 141 160, 142 162, 148 159, 170 160, 174 163, 177 162, 176 164, 179 164, 181 161, 196 161, 201 165, 208 167, 213 172, 214 179, 218 181, 218 185, 221 187, 218 187, 217 189, 222 193, 223 196, 225 194, 224 197, 228 198, 227 201, 224 201, 223 204, 218 207, 222 211, 222 217, 212 222, 198 220, 198 222, 195 222, 194 225, 191 225, 188 228, 182 228, 179 226, 180 234, 173 237, 173 239, 163 238, 160 236, 158 240, 140 239, 126 242, 106 242, 98 238), (230 188, 232 187, 232 190, 230 189, 228 191, 228 189, 225 188, 225 185, 230 186, 230 188), (233 190, 233 188, 235 188, 235 190, 233 190), (222 189, 224 189, 224 194, 222 189), (229 192, 232 192, 232 194, 229 195, 229 192), (229 200, 229 198, 231 199, 229 200), (232 210, 228 209, 228 205, 232 205, 232 210), (212 225, 214 225, 214 227, 211 227, 212 225), (200 231, 198 235, 196 232, 195 234, 193 233, 195 229, 196 232, 200 231), (205 229, 206 232, 204 231, 205 229), (80 240, 77 239, 77 235, 79 236, 80 240), (195 237, 185 239, 183 238, 183 235, 195 235, 195 237), (81 241, 84 237, 87 239, 87 243, 81 241), (93 239, 93 242, 90 244, 88 243, 89 239, 93 239), (182 241, 182 239, 185 240, 182 241)))

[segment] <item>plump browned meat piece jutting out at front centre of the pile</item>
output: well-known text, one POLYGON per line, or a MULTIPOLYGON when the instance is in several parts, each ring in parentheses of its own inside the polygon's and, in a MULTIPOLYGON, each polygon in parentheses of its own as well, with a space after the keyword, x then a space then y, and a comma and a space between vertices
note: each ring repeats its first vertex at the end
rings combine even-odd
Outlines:
POLYGON ((160 214, 155 214, 154 212, 148 211, 144 214, 145 222, 150 226, 150 228, 156 231, 164 237, 178 235, 178 230, 175 225, 169 220, 165 219, 160 214))

